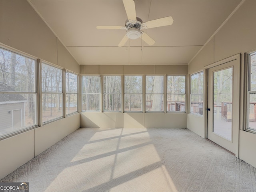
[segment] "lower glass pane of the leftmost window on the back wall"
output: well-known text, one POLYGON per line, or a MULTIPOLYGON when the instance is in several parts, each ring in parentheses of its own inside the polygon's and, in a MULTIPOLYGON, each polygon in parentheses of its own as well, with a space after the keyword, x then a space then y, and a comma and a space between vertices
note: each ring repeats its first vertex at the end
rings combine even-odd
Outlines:
POLYGON ((100 94, 82 94, 82 110, 100 110, 100 94))

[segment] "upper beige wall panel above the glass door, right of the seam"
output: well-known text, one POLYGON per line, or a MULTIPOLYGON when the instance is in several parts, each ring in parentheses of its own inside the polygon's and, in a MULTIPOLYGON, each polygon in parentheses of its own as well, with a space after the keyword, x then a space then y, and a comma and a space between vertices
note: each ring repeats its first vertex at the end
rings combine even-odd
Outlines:
POLYGON ((244 4, 214 37, 214 62, 256 49, 255 0, 244 4))

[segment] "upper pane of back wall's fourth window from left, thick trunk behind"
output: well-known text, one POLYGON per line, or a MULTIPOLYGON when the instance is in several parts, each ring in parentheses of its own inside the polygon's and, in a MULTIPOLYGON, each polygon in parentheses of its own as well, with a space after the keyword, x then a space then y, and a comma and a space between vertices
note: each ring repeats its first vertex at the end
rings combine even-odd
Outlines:
POLYGON ((164 76, 146 76, 146 94, 164 93, 164 76))

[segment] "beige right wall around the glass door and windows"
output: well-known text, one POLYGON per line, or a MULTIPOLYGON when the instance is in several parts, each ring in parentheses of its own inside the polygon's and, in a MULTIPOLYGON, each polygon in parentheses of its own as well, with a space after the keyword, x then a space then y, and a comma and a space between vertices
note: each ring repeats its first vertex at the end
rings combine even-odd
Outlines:
MULTIPOLYGON (((256 1, 245 0, 233 16, 214 35, 201 52, 188 65, 188 74, 204 70, 204 66, 218 62, 230 56, 241 54, 240 110, 244 98, 244 59, 245 52, 256 50, 256 1)), ((206 100, 204 100, 206 103, 206 100)), ((240 129, 243 129, 243 112, 240 112, 240 129)), ((203 117, 188 114, 188 129, 204 136, 206 128, 203 117)), ((239 158, 256 167, 256 134, 240 130, 239 158)))

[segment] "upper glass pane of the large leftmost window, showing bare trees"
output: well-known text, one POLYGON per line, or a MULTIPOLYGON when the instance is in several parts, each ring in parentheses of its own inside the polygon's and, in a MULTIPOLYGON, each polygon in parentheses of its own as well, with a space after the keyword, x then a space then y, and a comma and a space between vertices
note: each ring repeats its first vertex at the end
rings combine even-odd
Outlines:
POLYGON ((36 61, 0 49, 0 92, 35 92, 36 61))

